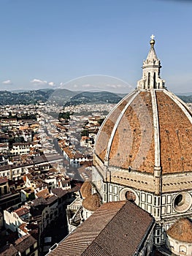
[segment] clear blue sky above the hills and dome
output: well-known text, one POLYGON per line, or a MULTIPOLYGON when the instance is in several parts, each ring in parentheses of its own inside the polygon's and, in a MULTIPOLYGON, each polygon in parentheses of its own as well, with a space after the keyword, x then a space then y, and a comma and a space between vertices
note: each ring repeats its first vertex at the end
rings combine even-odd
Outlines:
POLYGON ((1 0, 0 89, 85 90, 101 83, 99 89, 128 92, 155 34, 167 88, 191 92, 191 13, 185 0, 1 0), (93 85, 91 75, 100 82, 93 85), (86 84, 78 82, 84 76, 86 84), (125 83, 102 83, 103 76, 125 83))

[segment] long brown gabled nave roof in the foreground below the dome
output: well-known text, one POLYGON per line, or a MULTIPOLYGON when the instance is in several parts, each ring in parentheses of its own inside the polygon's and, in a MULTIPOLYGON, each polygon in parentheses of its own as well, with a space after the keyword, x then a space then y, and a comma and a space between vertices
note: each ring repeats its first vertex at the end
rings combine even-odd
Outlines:
POLYGON ((129 201, 104 203, 49 256, 135 255, 155 221, 129 201))

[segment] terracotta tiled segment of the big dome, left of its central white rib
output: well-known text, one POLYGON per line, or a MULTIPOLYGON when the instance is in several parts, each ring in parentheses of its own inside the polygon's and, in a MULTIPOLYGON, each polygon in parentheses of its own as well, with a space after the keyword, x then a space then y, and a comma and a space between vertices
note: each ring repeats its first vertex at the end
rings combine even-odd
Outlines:
POLYGON ((110 149, 110 165, 153 173, 154 162, 151 94, 140 92, 120 119, 110 149))

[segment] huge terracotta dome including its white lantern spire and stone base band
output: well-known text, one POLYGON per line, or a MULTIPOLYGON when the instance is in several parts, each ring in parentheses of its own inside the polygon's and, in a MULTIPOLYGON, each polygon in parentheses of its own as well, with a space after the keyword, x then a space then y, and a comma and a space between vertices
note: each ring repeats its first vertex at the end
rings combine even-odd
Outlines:
POLYGON ((159 194, 160 189, 190 186, 178 175, 192 171, 192 114, 160 78, 153 41, 137 89, 115 106, 99 130, 93 165, 107 181, 159 194), (176 177, 174 184, 170 175, 176 177))

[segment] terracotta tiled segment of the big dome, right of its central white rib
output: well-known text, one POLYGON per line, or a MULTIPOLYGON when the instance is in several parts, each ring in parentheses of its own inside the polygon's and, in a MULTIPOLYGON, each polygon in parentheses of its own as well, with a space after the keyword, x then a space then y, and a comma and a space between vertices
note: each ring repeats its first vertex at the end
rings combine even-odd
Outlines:
POLYGON ((162 173, 191 171, 192 124, 180 106, 162 91, 156 91, 161 140, 162 173))

